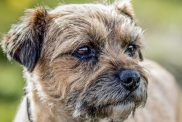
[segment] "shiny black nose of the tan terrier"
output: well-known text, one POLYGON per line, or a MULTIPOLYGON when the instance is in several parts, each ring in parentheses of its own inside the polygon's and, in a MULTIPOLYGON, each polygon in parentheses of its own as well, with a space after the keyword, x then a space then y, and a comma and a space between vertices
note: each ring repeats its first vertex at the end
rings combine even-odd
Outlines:
POLYGON ((119 79, 121 84, 129 91, 134 91, 140 85, 140 74, 135 70, 121 69, 119 79))

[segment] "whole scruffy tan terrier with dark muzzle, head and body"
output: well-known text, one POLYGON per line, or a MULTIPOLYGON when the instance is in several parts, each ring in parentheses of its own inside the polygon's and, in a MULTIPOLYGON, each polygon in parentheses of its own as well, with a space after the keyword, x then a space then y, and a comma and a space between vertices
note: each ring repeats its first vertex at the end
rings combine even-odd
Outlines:
POLYGON ((129 0, 27 10, 2 41, 26 79, 15 122, 176 122, 175 80, 142 42, 129 0))

